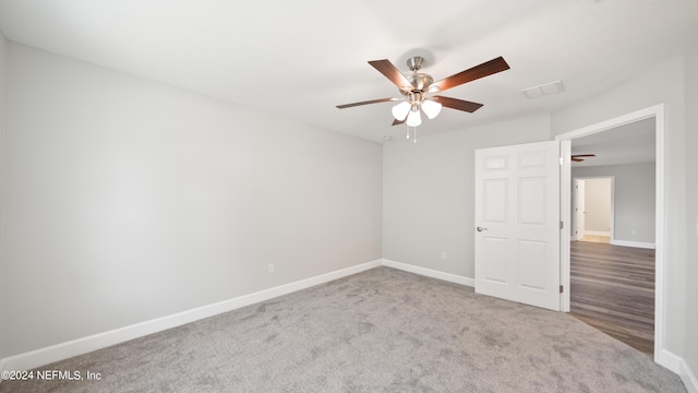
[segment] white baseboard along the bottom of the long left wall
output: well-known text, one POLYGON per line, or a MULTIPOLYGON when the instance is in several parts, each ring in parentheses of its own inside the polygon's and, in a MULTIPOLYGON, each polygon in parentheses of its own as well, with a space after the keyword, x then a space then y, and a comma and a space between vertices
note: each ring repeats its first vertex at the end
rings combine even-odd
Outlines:
POLYGON ((79 356, 93 350, 106 348, 108 346, 123 343, 129 340, 177 327, 185 323, 232 311, 261 301, 266 301, 279 296, 310 288, 318 284, 324 284, 333 279, 357 274, 373 267, 377 267, 382 263, 383 260, 375 260, 372 262, 342 269, 336 272, 321 274, 318 276, 280 285, 274 288, 260 290, 233 299, 178 312, 176 314, 144 321, 141 323, 115 329, 70 342, 51 345, 49 347, 10 356, 0 359, 0 370, 29 370, 55 361, 68 359, 73 356, 79 356))

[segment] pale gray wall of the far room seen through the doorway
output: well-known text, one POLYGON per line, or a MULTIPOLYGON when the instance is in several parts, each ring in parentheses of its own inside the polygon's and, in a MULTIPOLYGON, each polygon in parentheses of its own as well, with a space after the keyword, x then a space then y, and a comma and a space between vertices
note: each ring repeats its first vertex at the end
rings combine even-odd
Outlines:
MULTIPOLYGON (((615 240, 654 243, 655 166, 653 163, 573 168, 573 177, 615 177, 615 240)), ((589 181, 587 181, 589 187, 589 181)), ((589 206, 587 205, 587 211, 589 206)), ((587 217, 588 219, 588 217, 587 217)))

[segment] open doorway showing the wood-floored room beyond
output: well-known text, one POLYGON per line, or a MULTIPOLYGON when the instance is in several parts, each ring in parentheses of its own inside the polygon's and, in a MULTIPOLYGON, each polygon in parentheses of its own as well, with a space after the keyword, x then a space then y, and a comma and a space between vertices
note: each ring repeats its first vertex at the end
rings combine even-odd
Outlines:
POLYGON ((654 250, 612 241, 611 217, 617 202, 618 240, 633 243, 640 228, 649 234, 645 240, 653 241, 654 133, 654 119, 649 118, 571 141, 573 157, 587 157, 571 165, 570 314, 650 356, 654 250))

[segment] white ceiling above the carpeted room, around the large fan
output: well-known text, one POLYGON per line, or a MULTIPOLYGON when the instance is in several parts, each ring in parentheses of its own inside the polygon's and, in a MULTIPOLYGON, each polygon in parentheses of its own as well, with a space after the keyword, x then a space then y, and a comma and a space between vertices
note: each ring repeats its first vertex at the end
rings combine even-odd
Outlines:
POLYGON ((423 55, 441 80, 503 56, 510 70, 444 93, 484 104, 444 109, 422 135, 546 112, 683 55, 696 0, 0 0, 14 41, 383 142, 398 96, 366 61, 423 55), (521 90, 563 81, 562 94, 521 90))

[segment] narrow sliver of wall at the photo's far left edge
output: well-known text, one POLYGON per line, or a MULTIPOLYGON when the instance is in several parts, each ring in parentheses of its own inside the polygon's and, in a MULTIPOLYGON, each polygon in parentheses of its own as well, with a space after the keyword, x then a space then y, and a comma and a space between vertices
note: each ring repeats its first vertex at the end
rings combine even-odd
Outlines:
POLYGON ((7 60, 8 60, 8 40, 0 32, 0 358, 2 358, 2 354, 4 353, 4 299, 7 299, 5 294, 5 258, 4 258, 4 243, 3 236, 4 233, 4 135, 5 135, 5 93, 7 93, 7 60))

